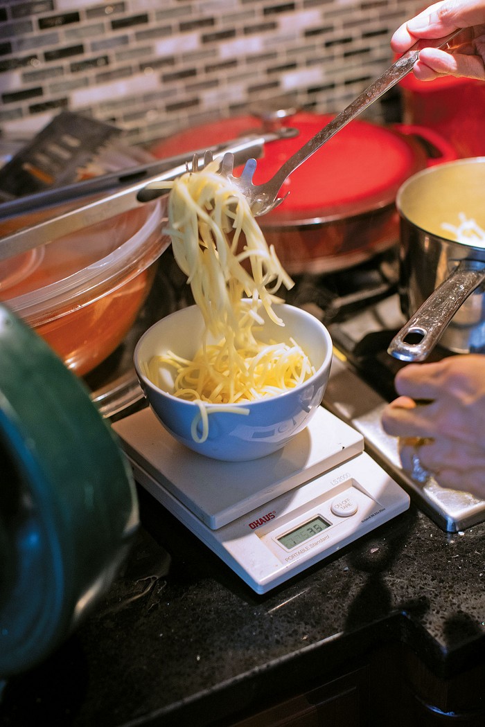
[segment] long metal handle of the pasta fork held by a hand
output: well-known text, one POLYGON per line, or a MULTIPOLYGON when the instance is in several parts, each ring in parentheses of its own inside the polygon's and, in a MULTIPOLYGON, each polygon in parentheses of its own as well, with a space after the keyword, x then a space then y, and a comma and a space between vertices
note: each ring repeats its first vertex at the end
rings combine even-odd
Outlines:
MULTIPOLYGON (((314 137, 306 142, 302 148, 295 152, 293 156, 290 156, 283 166, 278 169, 278 172, 276 172, 270 182, 274 183, 275 188, 276 183, 278 183, 279 190, 286 178, 289 177, 289 175, 294 172, 300 164, 303 164, 309 156, 315 153, 316 150, 331 139, 334 134, 337 134, 337 132, 346 126, 349 121, 355 119, 359 113, 362 113, 362 111, 374 103, 374 101, 385 94, 386 91, 395 86, 398 81, 404 79, 404 76, 407 76, 407 74, 414 68, 414 63, 416 63, 420 55, 420 50, 424 47, 423 43, 425 43, 425 47, 444 48, 447 44, 449 44, 449 41, 451 41, 454 36, 457 36, 461 31, 462 28, 459 28, 457 31, 450 33, 445 38, 438 38, 435 41, 419 41, 416 43, 411 49, 409 49, 409 51, 398 58, 396 63, 393 63, 393 65, 391 65, 385 73, 382 73, 382 76, 373 81, 370 86, 358 95, 352 103, 344 108, 343 111, 340 111, 340 113, 338 113, 337 116, 329 122, 329 124, 326 124, 326 126, 324 126, 324 128, 317 132, 314 137), (420 47, 418 48, 418 46, 420 47)), ((266 184, 269 184, 270 182, 266 182, 266 184)))

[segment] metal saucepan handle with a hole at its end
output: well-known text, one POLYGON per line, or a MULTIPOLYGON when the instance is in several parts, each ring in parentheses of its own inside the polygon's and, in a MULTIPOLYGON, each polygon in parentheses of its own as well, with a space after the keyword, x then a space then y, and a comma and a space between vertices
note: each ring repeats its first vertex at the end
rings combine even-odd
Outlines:
POLYGON ((485 262, 462 260, 396 334, 388 347, 390 356, 401 361, 428 358, 454 314, 484 280, 485 262), (418 336, 420 341, 407 342, 409 336, 418 336))

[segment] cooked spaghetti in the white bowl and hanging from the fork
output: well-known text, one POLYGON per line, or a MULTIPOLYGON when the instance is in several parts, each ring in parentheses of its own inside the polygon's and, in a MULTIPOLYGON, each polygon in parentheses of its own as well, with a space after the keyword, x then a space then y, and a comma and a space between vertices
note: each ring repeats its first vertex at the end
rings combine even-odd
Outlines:
POLYGON ((297 342, 262 342, 260 314, 282 326, 273 303, 293 282, 268 246, 244 194, 217 174, 219 163, 171 182, 169 224, 175 260, 204 318, 204 337, 193 361, 176 351, 148 362, 158 385, 160 367, 176 371, 175 395, 190 401, 236 404, 299 385, 313 374, 297 342))

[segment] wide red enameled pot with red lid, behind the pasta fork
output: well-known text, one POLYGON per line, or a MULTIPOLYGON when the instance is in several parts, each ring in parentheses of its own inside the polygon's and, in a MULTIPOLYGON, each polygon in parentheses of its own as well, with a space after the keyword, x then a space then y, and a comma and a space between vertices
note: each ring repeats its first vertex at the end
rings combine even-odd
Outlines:
MULTIPOLYGON (((300 133, 266 145, 254 182, 272 177, 331 119, 314 113, 278 119, 300 133)), ((256 116, 223 119, 175 134, 151 152, 163 158, 204 148, 261 132, 263 124, 256 116)), ((289 196, 258 222, 289 273, 348 268, 398 243, 395 199, 401 184, 426 166, 455 158, 452 145, 430 129, 350 121, 292 173, 281 189, 289 196)))

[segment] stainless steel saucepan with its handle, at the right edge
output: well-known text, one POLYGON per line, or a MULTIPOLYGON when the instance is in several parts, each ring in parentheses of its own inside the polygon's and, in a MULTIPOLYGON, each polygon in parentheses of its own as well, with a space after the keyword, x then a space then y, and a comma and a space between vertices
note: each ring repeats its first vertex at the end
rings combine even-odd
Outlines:
POLYGON ((485 353, 485 157, 433 166, 398 191, 401 309, 411 316, 388 353, 424 361, 438 342, 454 353, 485 353), (465 222, 464 222, 465 220, 465 222), (457 238, 455 230, 459 228, 457 238))

